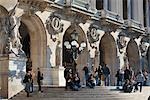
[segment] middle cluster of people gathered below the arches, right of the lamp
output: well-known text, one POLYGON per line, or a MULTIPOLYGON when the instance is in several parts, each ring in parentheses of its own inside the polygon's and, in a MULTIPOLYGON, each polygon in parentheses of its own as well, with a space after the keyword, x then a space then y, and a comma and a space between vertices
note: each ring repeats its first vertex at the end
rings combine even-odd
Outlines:
POLYGON ((98 66, 96 69, 92 67, 92 70, 93 71, 91 72, 87 66, 84 66, 83 68, 86 86, 94 87, 98 85, 110 85, 110 70, 107 64, 104 64, 103 67, 98 66))

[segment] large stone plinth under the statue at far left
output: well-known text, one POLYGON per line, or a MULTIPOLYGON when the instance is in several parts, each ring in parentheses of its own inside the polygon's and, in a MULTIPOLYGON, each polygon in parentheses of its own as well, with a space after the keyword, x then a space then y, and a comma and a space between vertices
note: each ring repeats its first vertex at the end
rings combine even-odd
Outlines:
POLYGON ((0 57, 1 96, 11 98, 24 89, 25 58, 0 57))

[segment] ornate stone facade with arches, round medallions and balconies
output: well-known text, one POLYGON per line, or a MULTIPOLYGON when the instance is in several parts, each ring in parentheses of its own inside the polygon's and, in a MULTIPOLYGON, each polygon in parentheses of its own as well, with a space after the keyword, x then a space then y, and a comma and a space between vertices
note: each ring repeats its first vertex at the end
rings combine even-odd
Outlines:
MULTIPOLYGON (((115 73, 119 68, 130 66, 135 72, 150 71, 150 25, 144 23, 144 20, 150 20, 150 14, 143 15, 150 11, 142 9, 143 3, 150 3, 148 0, 132 0, 132 4, 127 2, 130 0, 103 0, 101 8, 96 6, 96 0, 16 0, 11 7, 8 0, 7 3, 2 1, 0 59, 5 55, 19 63, 25 61, 18 58, 25 53, 32 62, 33 71, 36 73, 36 68, 40 67, 44 73, 43 85, 64 86, 66 64, 68 68, 78 70, 82 77, 84 66, 92 71, 105 63, 111 70, 111 85, 116 84, 115 73), (16 14, 12 15, 12 12, 16 14), (77 45, 71 43, 72 34, 77 45), (65 41, 70 42, 70 49, 65 48, 65 41), (83 42, 86 46, 79 53, 83 42), (16 56, 10 56, 11 51, 16 56), (76 53, 78 57, 74 59, 76 53)), ((4 72, 12 67, 8 64, 11 61, 7 60, 4 72)), ((4 62, 0 61, 0 65, 4 67, 4 62)), ((3 77, 4 72, 0 71, 0 91, 8 89, 1 83, 8 78, 3 77)), ((84 83, 83 78, 81 82, 84 83)), ((6 97, 8 91, 3 96, 6 97)))

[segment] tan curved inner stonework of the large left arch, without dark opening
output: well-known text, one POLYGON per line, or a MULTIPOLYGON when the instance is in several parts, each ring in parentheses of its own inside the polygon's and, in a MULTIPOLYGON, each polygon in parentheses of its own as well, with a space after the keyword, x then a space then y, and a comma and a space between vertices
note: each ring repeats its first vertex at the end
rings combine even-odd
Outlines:
MULTIPOLYGON (((37 15, 22 15, 22 23, 27 27, 30 36, 30 52, 32 67, 46 67, 46 31, 37 15)), ((21 33, 21 32, 20 32, 21 33)))

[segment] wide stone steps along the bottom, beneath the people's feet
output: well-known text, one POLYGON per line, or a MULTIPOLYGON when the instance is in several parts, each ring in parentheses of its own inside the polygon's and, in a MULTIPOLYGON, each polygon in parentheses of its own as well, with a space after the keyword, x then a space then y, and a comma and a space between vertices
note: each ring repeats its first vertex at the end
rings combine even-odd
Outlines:
POLYGON ((65 90, 64 88, 43 87, 43 93, 38 93, 37 88, 26 97, 24 91, 20 92, 10 100, 148 100, 150 87, 144 87, 142 93, 123 93, 116 87, 99 86, 94 89, 82 88, 80 91, 65 90))

